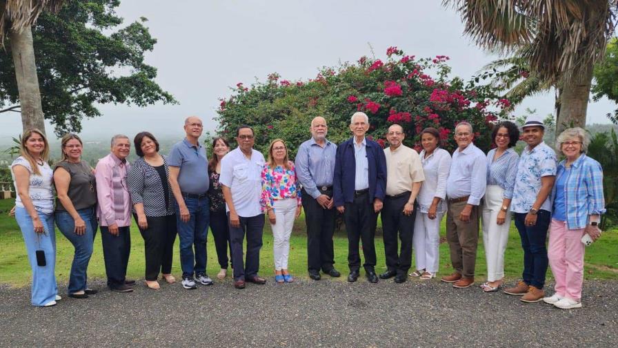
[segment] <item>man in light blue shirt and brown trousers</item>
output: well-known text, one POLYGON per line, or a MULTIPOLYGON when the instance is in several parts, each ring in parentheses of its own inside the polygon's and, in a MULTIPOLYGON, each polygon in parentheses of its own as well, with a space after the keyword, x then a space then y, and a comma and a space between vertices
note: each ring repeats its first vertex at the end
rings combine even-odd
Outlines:
POLYGON ((472 139, 472 125, 460 122, 455 127, 458 148, 452 154, 450 173, 446 180, 446 239, 455 272, 442 277, 442 281, 452 282, 456 288, 467 288, 475 282, 479 204, 487 184, 485 154, 472 144, 472 139))

